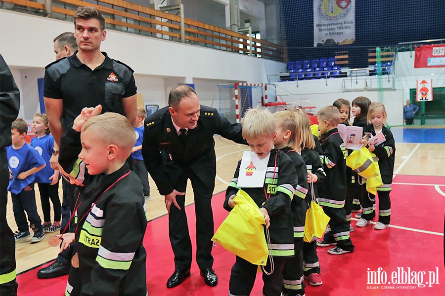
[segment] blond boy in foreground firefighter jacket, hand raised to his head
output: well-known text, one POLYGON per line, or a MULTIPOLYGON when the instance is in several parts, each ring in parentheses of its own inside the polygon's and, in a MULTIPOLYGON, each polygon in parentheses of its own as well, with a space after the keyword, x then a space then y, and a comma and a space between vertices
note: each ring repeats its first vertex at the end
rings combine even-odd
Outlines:
POLYGON ((147 220, 142 185, 126 162, 135 143, 132 125, 102 107, 84 108, 63 134, 61 173, 78 185, 73 208, 79 268, 71 268, 66 295, 145 296, 147 220), (79 158, 78 158, 79 157, 79 158))

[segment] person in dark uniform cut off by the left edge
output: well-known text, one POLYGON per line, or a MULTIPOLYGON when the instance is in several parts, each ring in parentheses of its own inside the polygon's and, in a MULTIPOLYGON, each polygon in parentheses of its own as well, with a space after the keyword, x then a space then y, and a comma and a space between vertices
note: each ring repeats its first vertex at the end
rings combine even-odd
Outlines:
POLYGON ((11 123, 20 108, 20 91, 0 54, 0 295, 16 296, 15 240, 6 221, 8 201, 8 159, 5 147, 11 145, 11 123))

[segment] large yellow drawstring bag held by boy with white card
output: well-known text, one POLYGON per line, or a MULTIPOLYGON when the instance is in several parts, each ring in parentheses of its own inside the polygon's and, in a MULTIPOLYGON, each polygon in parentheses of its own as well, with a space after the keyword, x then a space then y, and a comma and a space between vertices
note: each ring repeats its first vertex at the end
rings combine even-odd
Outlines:
POLYGON ((221 223, 212 241, 252 264, 266 265, 269 251, 263 213, 249 194, 241 189, 233 200, 235 207, 221 223))

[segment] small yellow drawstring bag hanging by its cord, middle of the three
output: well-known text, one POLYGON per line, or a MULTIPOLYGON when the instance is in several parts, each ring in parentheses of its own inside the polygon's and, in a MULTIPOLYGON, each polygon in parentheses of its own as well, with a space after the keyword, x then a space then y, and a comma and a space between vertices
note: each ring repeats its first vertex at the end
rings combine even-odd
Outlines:
POLYGON ((321 238, 326 231, 330 218, 324 214, 323 209, 315 202, 313 183, 310 183, 312 191, 311 207, 306 211, 306 222, 303 240, 307 243, 321 238))

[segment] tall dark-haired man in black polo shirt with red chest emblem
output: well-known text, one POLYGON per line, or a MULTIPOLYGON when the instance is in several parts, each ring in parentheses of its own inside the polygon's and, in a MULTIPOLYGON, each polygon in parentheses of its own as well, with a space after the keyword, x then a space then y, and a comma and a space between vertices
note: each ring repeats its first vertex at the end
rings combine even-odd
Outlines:
MULTIPOLYGON (((133 70, 100 51, 106 38, 105 18, 94 7, 79 7, 74 15, 74 37, 79 51, 48 66, 45 71, 45 109, 57 154, 60 137, 84 107, 102 105, 136 121, 136 85, 133 70)), ((74 205, 71 197, 71 206, 74 205)), ((71 207, 72 208, 72 207, 71 207)), ((59 258, 58 258, 59 259, 59 258)), ((56 260, 38 272, 40 278, 65 273, 70 262, 56 260)))

